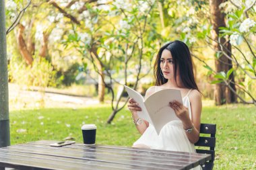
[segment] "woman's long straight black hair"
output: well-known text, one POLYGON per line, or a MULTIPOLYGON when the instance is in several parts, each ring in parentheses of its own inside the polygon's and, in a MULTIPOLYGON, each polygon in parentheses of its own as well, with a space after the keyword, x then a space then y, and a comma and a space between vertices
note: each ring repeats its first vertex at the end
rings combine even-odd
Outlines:
POLYGON ((184 42, 181 42, 179 40, 168 42, 160 48, 158 55, 156 56, 156 62, 154 64, 154 77, 156 80, 156 85, 163 85, 168 81, 168 79, 165 79, 164 76, 161 74, 162 71, 160 68, 163 50, 169 50, 170 54, 172 54, 175 81, 177 81, 177 68, 179 66, 179 74, 183 85, 187 89, 197 89, 197 91, 199 91, 197 84, 195 83, 193 64, 189 48, 184 42))

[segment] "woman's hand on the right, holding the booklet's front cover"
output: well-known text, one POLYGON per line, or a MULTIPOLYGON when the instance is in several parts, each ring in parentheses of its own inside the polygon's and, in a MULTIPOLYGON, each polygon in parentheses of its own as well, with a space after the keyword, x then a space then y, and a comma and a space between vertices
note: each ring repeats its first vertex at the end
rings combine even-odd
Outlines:
POLYGON ((185 107, 182 103, 174 100, 172 102, 169 102, 169 105, 170 105, 170 108, 174 110, 175 114, 181 121, 185 122, 186 120, 190 119, 189 109, 185 107))

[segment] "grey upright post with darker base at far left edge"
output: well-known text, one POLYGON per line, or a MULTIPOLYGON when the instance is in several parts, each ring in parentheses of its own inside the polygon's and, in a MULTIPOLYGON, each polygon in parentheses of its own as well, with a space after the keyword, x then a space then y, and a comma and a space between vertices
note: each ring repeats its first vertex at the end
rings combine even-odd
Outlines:
POLYGON ((0 1, 0 147, 10 145, 5 1, 0 1))

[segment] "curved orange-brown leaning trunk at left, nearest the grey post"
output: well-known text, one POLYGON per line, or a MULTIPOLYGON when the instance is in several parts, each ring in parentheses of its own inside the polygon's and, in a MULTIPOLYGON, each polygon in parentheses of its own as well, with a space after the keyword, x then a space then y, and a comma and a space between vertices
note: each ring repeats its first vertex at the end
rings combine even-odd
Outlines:
POLYGON ((20 50, 20 54, 22 54, 22 57, 26 60, 26 63, 28 65, 32 65, 33 58, 30 52, 28 51, 28 48, 23 38, 24 29, 25 29, 24 26, 22 26, 22 24, 19 24, 19 30, 18 30, 18 36, 17 36, 18 47, 20 50))

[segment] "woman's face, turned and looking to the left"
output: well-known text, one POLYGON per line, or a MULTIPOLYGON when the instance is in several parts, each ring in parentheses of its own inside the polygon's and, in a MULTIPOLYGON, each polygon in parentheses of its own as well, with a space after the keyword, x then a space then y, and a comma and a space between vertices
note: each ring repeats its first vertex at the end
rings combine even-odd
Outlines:
MULTIPOLYGON (((165 79, 174 78, 174 64, 172 61, 172 54, 170 54, 169 50, 163 50, 162 56, 160 58, 160 68, 165 79)), ((179 73, 177 71, 177 75, 178 74, 179 73)))

